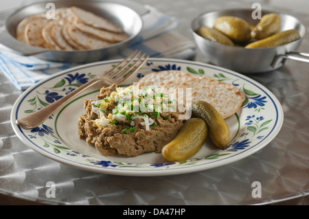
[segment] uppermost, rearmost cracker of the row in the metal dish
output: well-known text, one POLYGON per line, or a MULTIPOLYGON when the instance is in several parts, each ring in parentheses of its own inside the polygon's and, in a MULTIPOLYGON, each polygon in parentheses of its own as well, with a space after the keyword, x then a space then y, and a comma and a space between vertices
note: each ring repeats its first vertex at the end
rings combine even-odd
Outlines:
POLYGON ((76 19, 82 21, 83 23, 86 23, 87 25, 115 33, 124 32, 121 27, 118 27, 111 21, 108 21, 96 14, 82 10, 81 8, 77 7, 71 7, 69 8, 69 10, 71 14, 76 17, 76 19))

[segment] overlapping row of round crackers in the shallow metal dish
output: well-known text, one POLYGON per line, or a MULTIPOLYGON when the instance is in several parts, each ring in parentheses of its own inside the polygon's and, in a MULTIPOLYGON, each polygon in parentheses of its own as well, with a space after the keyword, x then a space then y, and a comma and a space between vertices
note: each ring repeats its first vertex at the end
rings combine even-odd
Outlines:
POLYGON ((100 49, 128 38, 121 27, 81 8, 58 8, 55 19, 36 14, 16 27, 17 40, 55 50, 100 49))

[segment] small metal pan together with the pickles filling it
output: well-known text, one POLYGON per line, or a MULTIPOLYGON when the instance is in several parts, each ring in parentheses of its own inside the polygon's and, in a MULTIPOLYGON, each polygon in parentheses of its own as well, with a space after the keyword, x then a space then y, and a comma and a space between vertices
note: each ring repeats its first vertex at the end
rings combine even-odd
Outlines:
POLYGON ((306 34, 299 19, 267 10, 253 19, 252 13, 252 9, 221 10, 192 21, 194 40, 207 62, 240 73, 260 73, 282 67, 289 58, 308 60, 296 52, 306 34))

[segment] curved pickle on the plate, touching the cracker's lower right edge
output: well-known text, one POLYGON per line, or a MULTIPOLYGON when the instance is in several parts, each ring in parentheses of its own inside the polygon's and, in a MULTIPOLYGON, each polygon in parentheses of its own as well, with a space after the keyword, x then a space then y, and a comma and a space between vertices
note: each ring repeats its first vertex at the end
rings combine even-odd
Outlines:
POLYGON ((211 141, 218 147, 223 148, 229 142, 229 126, 225 119, 216 111, 214 106, 205 101, 192 103, 192 118, 203 119, 211 141))

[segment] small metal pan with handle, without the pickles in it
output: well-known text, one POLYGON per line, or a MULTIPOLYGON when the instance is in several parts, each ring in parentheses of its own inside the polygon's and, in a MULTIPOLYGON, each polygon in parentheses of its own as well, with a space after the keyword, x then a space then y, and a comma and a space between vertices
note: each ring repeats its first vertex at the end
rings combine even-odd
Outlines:
MULTIPOLYGON (((207 12, 196 17, 192 21, 191 30, 196 41, 198 49, 205 55, 207 61, 220 67, 225 67, 240 73, 260 73, 273 71, 284 65, 286 59, 300 60, 309 62, 309 54, 300 54, 296 50, 299 47, 302 38, 306 33, 304 25, 294 16, 288 14, 279 14, 282 21, 282 29, 296 29, 299 31, 301 38, 292 43, 281 45, 278 47, 246 49, 244 47, 222 45, 207 41, 205 38, 195 33, 195 30, 201 25, 214 27, 216 19, 220 16, 238 16, 251 25, 258 24, 259 20, 254 20, 251 16, 252 9, 231 9, 215 12, 207 12)), ((262 15, 271 13, 272 11, 262 10, 262 15)))

